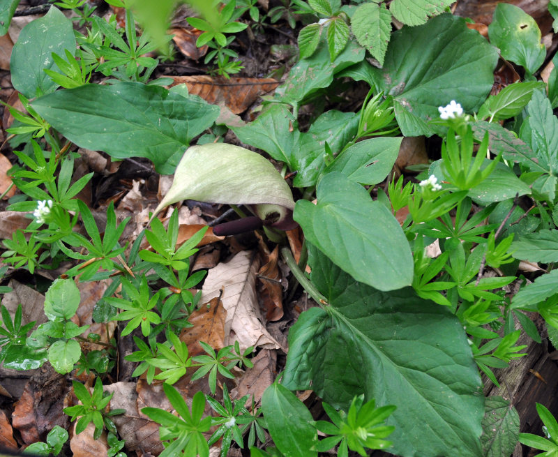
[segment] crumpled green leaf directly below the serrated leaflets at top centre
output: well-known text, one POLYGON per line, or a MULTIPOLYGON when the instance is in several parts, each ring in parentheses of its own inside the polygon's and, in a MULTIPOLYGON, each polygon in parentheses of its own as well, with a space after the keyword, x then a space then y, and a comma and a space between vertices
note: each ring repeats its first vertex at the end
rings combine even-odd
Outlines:
POLYGON ((317 52, 310 59, 302 59, 291 68, 285 82, 276 89, 276 98, 282 103, 298 106, 315 91, 328 87, 335 73, 363 61, 364 57, 365 49, 354 41, 349 41, 345 50, 331 62, 326 38, 322 33, 317 52))

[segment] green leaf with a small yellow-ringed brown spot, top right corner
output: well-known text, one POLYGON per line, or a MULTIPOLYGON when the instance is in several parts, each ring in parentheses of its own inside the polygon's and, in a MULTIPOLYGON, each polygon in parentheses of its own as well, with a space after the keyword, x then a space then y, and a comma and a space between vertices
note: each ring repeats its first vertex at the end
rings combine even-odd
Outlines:
POLYGON ((504 59, 518 63, 531 75, 546 57, 541 30, 535 20, 518 6, 498 3, 488 26, 490 43, 499 47, 504 59))

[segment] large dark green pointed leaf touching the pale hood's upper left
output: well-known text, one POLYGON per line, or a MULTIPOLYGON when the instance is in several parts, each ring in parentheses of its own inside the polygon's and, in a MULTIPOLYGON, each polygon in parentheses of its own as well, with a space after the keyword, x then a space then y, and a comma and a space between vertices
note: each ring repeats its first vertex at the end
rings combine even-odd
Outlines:
POLYGON ((174 172, 190 141, 219 114, 218 107, 200 98, 139 82, 85 84, 56 91, 32 105, 78 146, 113 158, 149 158, 161 174, 174 172))

